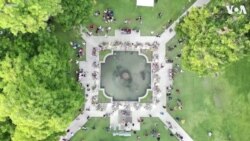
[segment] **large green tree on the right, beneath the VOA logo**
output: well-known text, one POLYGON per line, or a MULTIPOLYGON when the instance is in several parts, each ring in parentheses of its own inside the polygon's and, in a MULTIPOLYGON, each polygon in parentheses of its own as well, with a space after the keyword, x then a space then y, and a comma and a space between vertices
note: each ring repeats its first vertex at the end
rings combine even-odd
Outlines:
MULTIPOLYGON (((238 0, 230 2, 242 4, 238 0)), ((192 9, 177 31, 187 40, 182 50, 182 64, 200 75, 218 72, 250 50, 249 16, 228 14, 221 1, 192 9)))

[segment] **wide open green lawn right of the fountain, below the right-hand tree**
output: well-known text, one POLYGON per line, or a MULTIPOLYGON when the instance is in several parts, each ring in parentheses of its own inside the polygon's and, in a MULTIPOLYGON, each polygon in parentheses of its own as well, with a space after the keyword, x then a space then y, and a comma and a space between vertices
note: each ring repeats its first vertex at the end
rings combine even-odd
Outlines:
MULTIPOLYGON (((177 44, 173 38, 166 46, 177 44)), ((181 45, 168 52, 174 63, 181 45)), ((173 117, 185 120, 183 128, 196 141, 249 141, 250 134, 250 57, 242 59, 218 77, 199 77, 184 70, 174 79, 173 99, 169 101, 173 117), (180 92, 177 93, 176 89, 180 92), (178 110, 177 99, 183 103, 178 110), (212 137, 208 137, 212 131, 212 137)))

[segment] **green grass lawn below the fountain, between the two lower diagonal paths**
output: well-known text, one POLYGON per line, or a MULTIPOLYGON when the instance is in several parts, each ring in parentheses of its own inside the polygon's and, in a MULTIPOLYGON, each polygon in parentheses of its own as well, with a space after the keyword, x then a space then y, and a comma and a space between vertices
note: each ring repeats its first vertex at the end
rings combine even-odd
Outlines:
POLYGON ((161 141, 177 141, 175 137, 169 135, 170 132, 158 118, 144 118, 141 131, 136 134, 132 133, 131 137, 113 137, 111 131, 106 131, 105 128, 109 127, 109 118, 91 118, 85 127, 88 130, 78 131, 71 141, 136 141, 137 136, 141 138, 141 141, 157 141, 156 137, 151 135, 152 129, 160 133, 161 141), (145 136, 145 134, 148 135, 145 136))

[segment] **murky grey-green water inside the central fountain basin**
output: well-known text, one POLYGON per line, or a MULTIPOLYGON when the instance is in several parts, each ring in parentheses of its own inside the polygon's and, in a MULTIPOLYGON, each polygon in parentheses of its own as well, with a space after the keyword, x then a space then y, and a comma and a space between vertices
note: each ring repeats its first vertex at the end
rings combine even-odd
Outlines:
POLYGON ((151 84, 151 65, 135 51, 115 51, 101 64, 101 88, 117 101, 137 101, 151 84))

